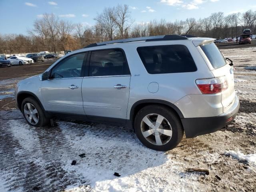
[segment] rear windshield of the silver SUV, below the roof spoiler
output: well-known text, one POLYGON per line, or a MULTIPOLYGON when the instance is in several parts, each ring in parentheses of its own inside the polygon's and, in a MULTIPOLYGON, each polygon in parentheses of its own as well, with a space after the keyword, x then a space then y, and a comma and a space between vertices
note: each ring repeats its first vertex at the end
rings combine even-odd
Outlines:
POLYGON ((204 51, 204 54, 208 57, 212 67, 218 69, 226 65, 226 60, 218 47, 214 43, 205 44, 200 46, 204 51))

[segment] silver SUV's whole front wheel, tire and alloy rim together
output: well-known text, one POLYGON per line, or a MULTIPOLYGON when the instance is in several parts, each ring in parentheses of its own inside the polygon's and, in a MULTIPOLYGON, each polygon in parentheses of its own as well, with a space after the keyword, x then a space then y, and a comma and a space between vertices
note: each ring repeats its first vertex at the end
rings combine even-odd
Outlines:
POLYGON ((32 126, 45 126, 49 119, 45 117, 40 104, 33 98, 27 97, 22 102, 22 114, 28 124, 32 126))

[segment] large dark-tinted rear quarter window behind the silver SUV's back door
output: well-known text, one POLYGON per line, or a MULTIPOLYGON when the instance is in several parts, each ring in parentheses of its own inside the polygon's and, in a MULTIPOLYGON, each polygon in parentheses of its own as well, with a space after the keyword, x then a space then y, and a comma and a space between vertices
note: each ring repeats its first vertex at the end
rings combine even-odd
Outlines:
POLYGON ((149 74, 184 73, 197 70, 184 45, 138 47, 137 52, 149 74))

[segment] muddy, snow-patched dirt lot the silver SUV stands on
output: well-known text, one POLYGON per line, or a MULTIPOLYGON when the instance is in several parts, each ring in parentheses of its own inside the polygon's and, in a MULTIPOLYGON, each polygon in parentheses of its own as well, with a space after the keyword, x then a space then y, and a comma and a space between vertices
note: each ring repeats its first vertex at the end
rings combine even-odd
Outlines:
POLYGON ((0 69, 0 191, 256 191, 256 47, 222 52, 236 68, 236 120, 225 132, 184 137, 168 152, 144 147, 126 127, 60 120, 28 126, 15 109, 15 84, 50 63, 0 69))

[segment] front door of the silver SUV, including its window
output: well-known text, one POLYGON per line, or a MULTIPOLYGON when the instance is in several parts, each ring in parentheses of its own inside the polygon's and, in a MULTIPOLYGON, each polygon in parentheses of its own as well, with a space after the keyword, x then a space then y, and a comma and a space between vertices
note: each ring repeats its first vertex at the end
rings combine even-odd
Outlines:
POLYGON ((50 112, 84 115, 81 85, 87 52, 72 54, 50 70, 50 78, 42 81, 45 108, 50 112))

